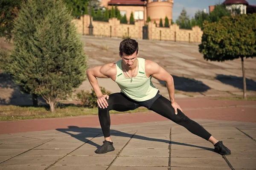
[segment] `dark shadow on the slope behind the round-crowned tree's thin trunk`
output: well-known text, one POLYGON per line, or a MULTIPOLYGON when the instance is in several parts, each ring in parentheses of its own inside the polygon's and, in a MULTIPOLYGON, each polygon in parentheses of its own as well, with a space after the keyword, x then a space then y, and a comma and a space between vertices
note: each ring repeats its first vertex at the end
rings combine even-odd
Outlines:
MULTIPOLYGON (((233 75, 217 75, 216 79, 224 84, 243 89, 243 77, 237 77, 233 75)), ((256 82, 252 79, 246 78, 246 89, 256 91, 256 82)))

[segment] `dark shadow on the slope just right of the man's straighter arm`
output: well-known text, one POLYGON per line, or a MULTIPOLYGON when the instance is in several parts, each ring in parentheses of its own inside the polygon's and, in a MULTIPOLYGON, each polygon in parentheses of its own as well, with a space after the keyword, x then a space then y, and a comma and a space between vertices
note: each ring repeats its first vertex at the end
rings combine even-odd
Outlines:
MULTIPOLYGON (((205 85, 202 81, 197 81, 194 78, 184 78, 172 75, 175 89, 183 92, 206 92, 211 89, 209 86, 205 85)), ((164 81, 159 81, 160 84, 166 86, 164 81)))

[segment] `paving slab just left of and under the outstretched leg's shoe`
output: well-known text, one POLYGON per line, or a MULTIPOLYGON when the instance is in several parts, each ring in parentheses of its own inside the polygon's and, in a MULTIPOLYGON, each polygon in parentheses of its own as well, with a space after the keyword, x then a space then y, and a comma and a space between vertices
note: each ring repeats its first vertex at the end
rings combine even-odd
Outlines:
POLYGON ((182 158, 221 158, 221 155, 213 150, 171 150, 171 157, 182 158))

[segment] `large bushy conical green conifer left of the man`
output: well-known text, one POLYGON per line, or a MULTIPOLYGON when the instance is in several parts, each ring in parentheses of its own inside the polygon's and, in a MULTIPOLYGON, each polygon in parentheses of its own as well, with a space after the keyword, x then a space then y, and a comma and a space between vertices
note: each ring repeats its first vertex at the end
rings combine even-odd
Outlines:
POLYGON ((86 56, 72 20, 62 0, 27 0, 14 23, 8 72, 26 92, 41 95, 51 112, 85 79, 86 56))

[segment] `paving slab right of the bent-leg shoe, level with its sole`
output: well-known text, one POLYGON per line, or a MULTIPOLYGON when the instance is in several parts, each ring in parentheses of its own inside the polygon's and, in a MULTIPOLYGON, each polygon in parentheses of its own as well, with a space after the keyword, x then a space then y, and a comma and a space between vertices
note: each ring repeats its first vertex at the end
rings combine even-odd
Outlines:
POLYGON ((120 156, 159 156, 169 157, 169 149, 128 149, 124 148, 120 156))

